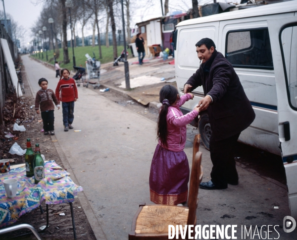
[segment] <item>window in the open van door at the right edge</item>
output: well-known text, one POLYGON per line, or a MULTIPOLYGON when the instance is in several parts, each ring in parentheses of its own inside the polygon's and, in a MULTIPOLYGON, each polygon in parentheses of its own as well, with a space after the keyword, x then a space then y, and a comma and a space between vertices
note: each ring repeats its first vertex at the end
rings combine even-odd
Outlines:
POLYGON ((285 27, 280 37, 289 104, 297 111, 297 26, 285 27))

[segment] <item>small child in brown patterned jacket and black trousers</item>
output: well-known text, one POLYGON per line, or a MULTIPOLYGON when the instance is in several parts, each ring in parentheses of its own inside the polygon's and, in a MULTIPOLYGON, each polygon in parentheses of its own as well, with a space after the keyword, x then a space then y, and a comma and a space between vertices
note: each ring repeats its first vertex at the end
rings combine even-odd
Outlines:
POLYGON ((41 89, 37 92, 35 98, 35 110, 37 114, 41 112, 41 118, 44 124, 45 135, 54 135, 54 106, 52 102, 55 103, 56 107, 60 109, 59 101, 51 89, 48 89, 48 80, 45 78, 40 78, 38 84, 41 89), (39 111, 40 107, 40 111, 39 111))

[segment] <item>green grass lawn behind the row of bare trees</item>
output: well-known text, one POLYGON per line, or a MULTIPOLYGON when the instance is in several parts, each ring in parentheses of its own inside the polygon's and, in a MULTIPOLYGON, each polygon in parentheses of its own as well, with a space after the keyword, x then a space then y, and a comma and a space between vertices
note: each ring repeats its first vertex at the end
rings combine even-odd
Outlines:
MULTIPOLYGON (((123 51, 124 47, 123 46, 117 46, 117 52, 118 55, 120 55, 120 53, 123 51)), ((61 68, 68 68, 69 70, 72 69, 73 66, 73 58, 72 58, 72 48, 68 48, 68 54, 69 54, 69 59, 70 62, 67 64, 63 63, 63 49, 59 49, 60 51, 60 56, 57 59, 57 61, 60 64, 61 68)), ((101 46, 101 52, 102 52, 102 59, 99 59, 99 47, 95 46, 86 46, 86 47, 76 47, 74 48, 74 55, 75 55, 75 62, 76 62, 76 66, 80 66, 82 65, 82 67, 86 67, 86 54, 89 54, 91 56, 91 58, 93 58, 93 52, 95 53, 96 59, 99 60, 102 63, 106 63, 106 62, 111 62, 113 61, 113 49, 112 46, 110 46, 109 48, 106 48, 105 46, 101 46)), ((129 57, 131 58, 132 54, 131 51, 129 50, 129 57)), ((46 52, 43 52, 44 55, 44 59, 42 59, 42 54, 40 53, 40 58, 39 58, 39 54, 35 54, 32 57, 36 58, 36 59, 40 59, 40 60, 44 60, 47 61, 46 58, 46 52)), ((53 51, 48 51, 48 59, 53 59, 53 51)), ((52 61, 48 61, 49 63, 54 64, 54 60, 52 61)))

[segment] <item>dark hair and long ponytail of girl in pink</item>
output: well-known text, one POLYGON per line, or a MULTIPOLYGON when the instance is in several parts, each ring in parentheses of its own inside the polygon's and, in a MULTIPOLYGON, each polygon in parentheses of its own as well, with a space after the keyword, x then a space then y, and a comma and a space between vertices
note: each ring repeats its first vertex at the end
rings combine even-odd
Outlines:
POLYGON ((167 144, 167 113, 168 107, 175 103, 178 96, 178 91, 175 87, 171 85, 165 85, 160 90, 160 103, 162 106, 160 108, 158 124, 157 124, 157 139, 160 141, 161 145, 168 149, 167 144))

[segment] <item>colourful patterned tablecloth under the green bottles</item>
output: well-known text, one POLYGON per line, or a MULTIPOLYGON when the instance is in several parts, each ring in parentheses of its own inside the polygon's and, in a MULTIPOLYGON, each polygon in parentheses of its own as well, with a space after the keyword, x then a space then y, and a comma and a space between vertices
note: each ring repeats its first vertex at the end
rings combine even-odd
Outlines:
POLYGON ((8 174, 0 175, 0 227, 15 223, 20 216, 37 208, 43 200, 47 204, 73 202, 77 192, 83 188, 69 176, 55 161, 45 163, 45 178, 38 184, 34 183, 34 177, 26 177, 25 168, 12 169, 8 174), (6 197, 5 179, 18 180, 16 197, 6 197))

